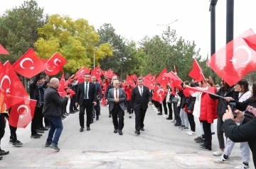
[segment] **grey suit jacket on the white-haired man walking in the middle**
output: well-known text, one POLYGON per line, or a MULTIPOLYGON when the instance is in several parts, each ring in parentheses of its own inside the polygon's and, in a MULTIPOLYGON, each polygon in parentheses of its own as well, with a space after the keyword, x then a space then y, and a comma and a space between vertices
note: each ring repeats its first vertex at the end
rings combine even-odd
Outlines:
MULTIPOLYGON (((110 91, 107 93, 107 100, 109 101, 110 105, 109 105, 109 109, 110 109, 110 112, 113 110, 114 108, 114 89, 115 88, 111 88, 110 91)), ((121 109, 124 111, 125 110, 125 107, 124 107, 124 102, 126 100, 126 95, 125 95, 125 92, 124 92, 124 89, 123 88, 118 88, 119 89, 119 105, 121 107, 121 109)))

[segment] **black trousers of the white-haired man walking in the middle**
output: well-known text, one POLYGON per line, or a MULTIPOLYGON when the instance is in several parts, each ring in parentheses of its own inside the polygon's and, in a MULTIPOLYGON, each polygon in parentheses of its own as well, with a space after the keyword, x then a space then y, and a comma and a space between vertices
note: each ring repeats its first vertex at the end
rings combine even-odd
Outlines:
POLYGON ((114 108, 111 111, 114 129, 122 131, 124 128, 124 111, 121 109, 119 103, 114 104, 114 108), (118 119, 117 119, 118 117, 118 119))

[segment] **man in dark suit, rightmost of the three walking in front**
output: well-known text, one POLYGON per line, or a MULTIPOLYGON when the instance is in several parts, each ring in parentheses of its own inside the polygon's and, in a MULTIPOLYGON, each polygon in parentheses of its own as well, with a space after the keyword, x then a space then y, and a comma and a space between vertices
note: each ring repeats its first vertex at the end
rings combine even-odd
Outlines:
POLYGON ((151 103, 151 94, 149 88, 143 86, 143 78, 138 78, 138 86, 132 90, 131 103, 135 112, 135 133, 140 134, 139 130, 144 131, 144 118, 148 103, 151 103))

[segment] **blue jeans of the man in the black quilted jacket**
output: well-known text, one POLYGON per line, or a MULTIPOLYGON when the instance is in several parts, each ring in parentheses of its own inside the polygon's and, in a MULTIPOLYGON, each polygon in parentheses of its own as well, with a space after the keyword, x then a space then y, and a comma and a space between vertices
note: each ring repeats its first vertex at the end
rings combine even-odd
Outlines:
POLYGON ((50 130, 49 130, 47 142, 58 145, 60 134, 63 131, 63 124, 62 124, 61 117, 46 115, 46 118, 50 123, 50 130), (54 134, 54 137, 53 137, 53 134, 54 134))

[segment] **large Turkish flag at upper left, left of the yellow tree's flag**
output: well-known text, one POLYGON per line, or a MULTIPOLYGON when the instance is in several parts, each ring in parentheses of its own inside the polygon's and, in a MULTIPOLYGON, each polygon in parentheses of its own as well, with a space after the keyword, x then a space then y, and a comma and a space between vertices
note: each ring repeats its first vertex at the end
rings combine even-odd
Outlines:
POLYGON ((36 76, 46 69, 45 64, 36 55, 33 48, 28 49, 28 51, 13 64, 13 68, 18 74, 26 78, 36 76))

